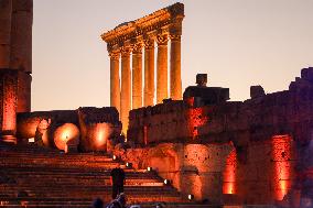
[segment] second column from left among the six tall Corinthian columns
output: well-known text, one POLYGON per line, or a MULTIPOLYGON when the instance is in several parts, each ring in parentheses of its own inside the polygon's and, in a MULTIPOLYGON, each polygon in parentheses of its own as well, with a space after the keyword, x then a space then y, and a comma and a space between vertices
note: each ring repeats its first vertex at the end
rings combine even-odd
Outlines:
POLYGON ((120 92, 120 118, 122 132, 128 129, 128 116, 131 109, 131 72, 130 72, 130 47, 121 48, 121 92, 120 92))

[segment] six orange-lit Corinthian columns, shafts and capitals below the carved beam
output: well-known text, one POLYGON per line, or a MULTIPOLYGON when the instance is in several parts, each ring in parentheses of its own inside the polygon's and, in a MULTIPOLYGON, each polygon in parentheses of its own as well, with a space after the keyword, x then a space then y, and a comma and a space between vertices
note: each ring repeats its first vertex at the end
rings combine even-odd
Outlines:
POLYGON ((160 34, 137 41, 109 52, 110 56, 110 106, 120 112, 123 133, 128 127, 129 111, 142 106, 153 106, 154 99, 154 42, 158 44, 156 56, 156 103, 169 98, 168 95, 168 42, 170 52, 170 98, 182 98, 181 80, 181 35, 160 34), (142 92, 142 51, 144 51, 144 87, 142 92), (132 55, 132 63, 130 63, 132 55), (121 83, 119 79, 119 59, 121 59, 121 83), (132 65, 132 83, 131 66, 132 65), (132 90, 132 91, 131 91, 132 90), (132 94, 131 94, 132 92, 132 94), (132 99, 131 99, 132 95, 132 99), (143 96, 143 105, 142 105, 143 96))

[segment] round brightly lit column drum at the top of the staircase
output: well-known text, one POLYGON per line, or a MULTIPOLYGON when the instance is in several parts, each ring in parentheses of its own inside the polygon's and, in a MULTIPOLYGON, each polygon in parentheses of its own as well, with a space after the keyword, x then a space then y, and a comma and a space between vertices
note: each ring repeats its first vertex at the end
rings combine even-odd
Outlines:
POLYGON ((54 131, 53 141, 58 150, 67 152, 68 145, 78 145, 79 135, 79 129, 75 124, 64 123, 54 131))

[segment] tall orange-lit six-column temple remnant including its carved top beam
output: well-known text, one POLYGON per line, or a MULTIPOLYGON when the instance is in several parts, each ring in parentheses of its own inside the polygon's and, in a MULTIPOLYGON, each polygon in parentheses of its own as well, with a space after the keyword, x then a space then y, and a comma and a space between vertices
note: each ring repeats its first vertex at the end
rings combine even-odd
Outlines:
POLYGON ((110 106, 116 107, 120 112, 123 133, 127 132, 128 114, 131 109, 154 105, 155 43, 158 47, 156 103, 161 103, 166 98, 173 100, 182 98, 181 35, 183 18, 184 4, 175 3, 144 18, 122 23, 101 35, 102 40, 107 42, 110 56, 110 106), (169 42, 171 45, 170 95, 168 92, 169 42), (142 81, 142 59, 144 59, 144 81, 142 81), (120 65, 121 81, 119 78, 120 65), (142 85, 144 85, 143 92, 142 85))

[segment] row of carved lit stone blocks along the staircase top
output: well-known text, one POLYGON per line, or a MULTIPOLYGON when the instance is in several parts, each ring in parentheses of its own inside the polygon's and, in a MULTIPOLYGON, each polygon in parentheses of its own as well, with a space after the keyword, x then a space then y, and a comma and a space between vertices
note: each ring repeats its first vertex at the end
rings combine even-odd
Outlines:
POLYGON ((88 107, 78 110, 18 113, 17 136, 21 143, 34 138, 41 145, 57 147, 55 142, 69 140, 73 135, 79 136, 80 151, 107 151, 107 143, 109 140, 117 140, 120 131, 121 123, 115 108, 88 107), (98 145, 101 141, 104 145, 98 145))

